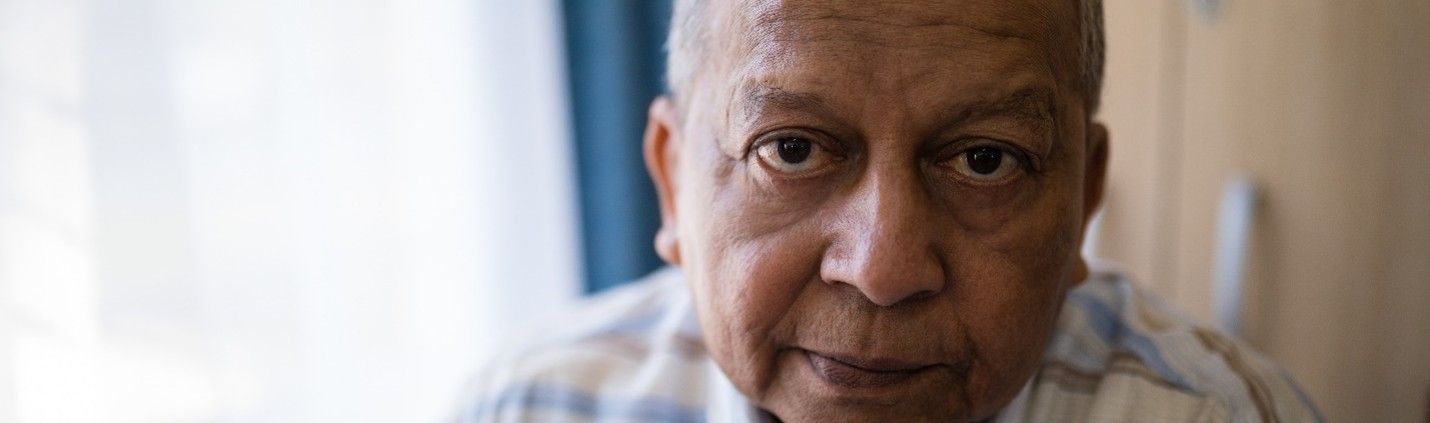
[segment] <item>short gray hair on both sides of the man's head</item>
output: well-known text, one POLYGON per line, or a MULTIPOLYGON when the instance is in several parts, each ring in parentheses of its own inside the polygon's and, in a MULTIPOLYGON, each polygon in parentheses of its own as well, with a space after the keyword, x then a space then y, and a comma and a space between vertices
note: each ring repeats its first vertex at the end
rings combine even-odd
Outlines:
MULTIPOLYGON (((1103 0, 1074 0, 1078 3, 1078 57, 1087 113, 1097 113, 1103 97, 1104 30, 1103 0)), ((671 34, 665 40, 665 86, 676 99, 695 79, 695 64, 705 59, 709 43, 711 16, 708 0, 675 0, 671 34)), ((679 101, 679 100, 676 100, 679 101)))

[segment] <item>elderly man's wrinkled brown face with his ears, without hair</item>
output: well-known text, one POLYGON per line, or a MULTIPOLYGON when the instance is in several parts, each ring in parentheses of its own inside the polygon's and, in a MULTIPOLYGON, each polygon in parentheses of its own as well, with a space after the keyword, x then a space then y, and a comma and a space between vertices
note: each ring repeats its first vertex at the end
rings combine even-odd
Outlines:
MULTIPOLYGON (((1074 1, 749 1, 646 154, 708 350, 792 422, 970 420, 1083 273, 1074 1)), ((1091 136, 1088 136, 1091 133, 1091 136)))

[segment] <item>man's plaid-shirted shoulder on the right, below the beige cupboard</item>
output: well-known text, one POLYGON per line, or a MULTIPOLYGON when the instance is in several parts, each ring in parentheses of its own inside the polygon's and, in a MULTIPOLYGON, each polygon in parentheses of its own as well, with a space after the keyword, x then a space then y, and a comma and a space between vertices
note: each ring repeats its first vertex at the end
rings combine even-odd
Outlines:
POLYGON ((1280 366, 1105 266, 1068 294, 1034 384, 1093 420, 1321 420, 1280 366))

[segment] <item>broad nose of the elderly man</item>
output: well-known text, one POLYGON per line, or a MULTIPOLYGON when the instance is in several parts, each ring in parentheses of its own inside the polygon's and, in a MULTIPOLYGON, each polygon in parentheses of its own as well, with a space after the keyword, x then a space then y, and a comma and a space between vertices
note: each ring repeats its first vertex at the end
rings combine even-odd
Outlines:
POLYGON ((821 263, 827 283, 858 289, 888 307, 944 289, 932 200, 917 174, 875 174, 842 201, 821 263))

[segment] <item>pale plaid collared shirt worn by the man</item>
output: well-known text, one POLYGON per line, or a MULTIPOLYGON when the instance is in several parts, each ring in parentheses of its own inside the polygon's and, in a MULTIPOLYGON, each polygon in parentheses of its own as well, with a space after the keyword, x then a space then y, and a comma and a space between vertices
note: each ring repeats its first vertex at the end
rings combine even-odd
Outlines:
MULTIPOLYGON (((678 270, 591 300, 478 377, 458 422, 761 422, 706 354, 678 270)), ((998 422, 1320 422, 1280 367, 1114 272, 1071 293, 998 422)))

